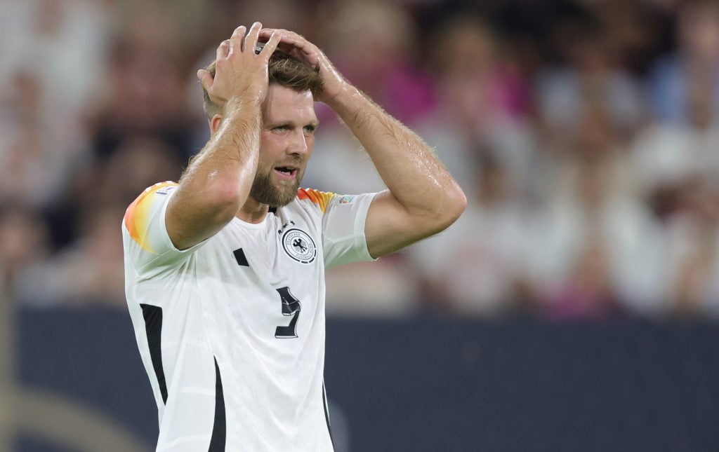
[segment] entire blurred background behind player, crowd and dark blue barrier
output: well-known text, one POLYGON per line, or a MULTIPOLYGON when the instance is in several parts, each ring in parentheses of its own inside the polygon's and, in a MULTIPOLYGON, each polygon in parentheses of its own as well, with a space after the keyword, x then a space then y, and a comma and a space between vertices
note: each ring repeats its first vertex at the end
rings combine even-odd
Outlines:
MULTIPOLYGON (((332 270, 342 451, 719 448, 715 1, 0 1, 0 451, 151 450, 119 222, 207 138, 194 74, 295 29, 470 206, 332 270)), ((304 185, 381 189, 319 106, 304 185)))

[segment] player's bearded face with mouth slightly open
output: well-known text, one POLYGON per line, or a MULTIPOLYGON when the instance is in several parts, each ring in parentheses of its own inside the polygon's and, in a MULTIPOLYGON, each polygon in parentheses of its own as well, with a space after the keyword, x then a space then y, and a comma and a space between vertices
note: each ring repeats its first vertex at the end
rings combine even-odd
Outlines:
POLYGON ((260 161, 249 192, 252 198, 280 207, 296 197, 318 123, 312 93, 270 84, 262 103, 260 161))

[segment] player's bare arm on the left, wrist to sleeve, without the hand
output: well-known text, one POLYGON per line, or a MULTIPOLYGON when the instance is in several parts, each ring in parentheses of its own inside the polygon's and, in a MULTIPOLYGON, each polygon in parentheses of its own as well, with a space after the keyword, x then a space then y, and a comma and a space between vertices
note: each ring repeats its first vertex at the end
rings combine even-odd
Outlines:
POLYGON ((168 206, 168 233, 188 248, 218 232, 247 201, 260 149, 260 104, 235 98, 219 127, 191 161, 168 206))

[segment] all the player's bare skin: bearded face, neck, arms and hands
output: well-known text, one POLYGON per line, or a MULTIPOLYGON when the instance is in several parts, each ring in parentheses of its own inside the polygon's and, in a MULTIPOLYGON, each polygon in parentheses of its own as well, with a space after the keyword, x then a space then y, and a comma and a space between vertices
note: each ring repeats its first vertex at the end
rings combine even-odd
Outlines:
POLYGON ((238 27, 220 44, 216 73, 198 71, 221 113, 212 138, 193 161, 168 206, 175 246, 189 248, 218 232, 232 217, 260 222, 270 204, 293 198, 313 147, 313 98, 268 86, 267 63, 283 52, 319 70, 326 103, 354 133, 388 189, 377 195, 365 222, 370 255, 393 253, 451 225, 467 199, 429 146, 349 83, 324 52, 295 32, 238 27), (258 39, 266 42, 255 53, 258 39), (263 123, 265 126, 263 126, 263 123))

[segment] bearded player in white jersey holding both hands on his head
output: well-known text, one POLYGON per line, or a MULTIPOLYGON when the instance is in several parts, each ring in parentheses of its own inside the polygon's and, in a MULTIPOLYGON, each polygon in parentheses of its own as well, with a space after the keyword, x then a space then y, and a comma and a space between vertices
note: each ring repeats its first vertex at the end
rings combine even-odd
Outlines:
POLYGON ((299 34, 238 27, 198 78, 210 140, 178 183, 140 194, 122 225, 157 450, 332 451, 325 268, 443 230, 464 193, 421 138, 299 34), (299 187, 315 100, 359 139, 387 190, 299 187))

